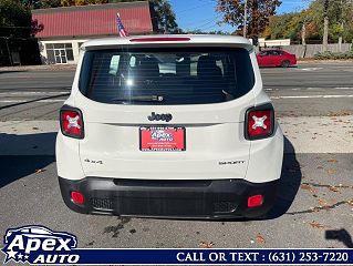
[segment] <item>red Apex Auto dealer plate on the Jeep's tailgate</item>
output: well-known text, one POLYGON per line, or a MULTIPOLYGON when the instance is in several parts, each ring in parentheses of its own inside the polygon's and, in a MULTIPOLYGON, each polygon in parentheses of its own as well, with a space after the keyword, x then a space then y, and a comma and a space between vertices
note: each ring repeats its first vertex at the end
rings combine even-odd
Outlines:
POLYGON ((185 127, 142 126, 139 127, 139 150, 155 152, 185 151, 185 127))

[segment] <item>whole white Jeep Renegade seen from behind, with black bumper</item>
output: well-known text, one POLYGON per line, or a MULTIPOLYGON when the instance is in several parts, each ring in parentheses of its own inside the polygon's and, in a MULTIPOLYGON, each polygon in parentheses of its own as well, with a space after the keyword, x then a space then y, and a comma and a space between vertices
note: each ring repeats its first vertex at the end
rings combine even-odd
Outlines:
POLYGON ((243 38, 85 42, 60 123, 59 182, 75 212, 256 217, 276 200, 283 135, 243 38))

